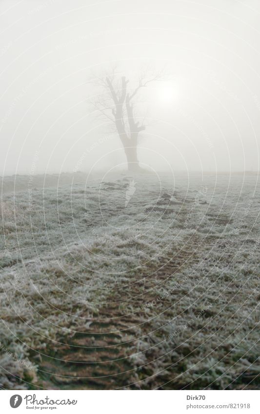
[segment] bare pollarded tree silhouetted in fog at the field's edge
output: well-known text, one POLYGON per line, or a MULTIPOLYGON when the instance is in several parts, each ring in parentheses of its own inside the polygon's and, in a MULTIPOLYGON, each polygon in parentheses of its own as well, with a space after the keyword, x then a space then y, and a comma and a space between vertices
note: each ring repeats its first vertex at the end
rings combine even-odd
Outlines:
MULTIPOLYGON (((137 145, 140 132, 145 130, 144 120, 137 121, 136 98, 140 89, 145 88, 149 82, 160 79, 160 74, 147 79, 140 76, 138 84, 132 90, 129 80, 125 76, 115 74, 115 69, 109 75, 95 77, 92 83, 102 87, 99 97, 91 103, 99 113, 108 118, 116 127, 122 142, 129 171, 140 171, 137 155, 137 145), (135 100, 135 102, 134 102, 135 100)), ((139 117, 140 119, 140 117, 139 117)))

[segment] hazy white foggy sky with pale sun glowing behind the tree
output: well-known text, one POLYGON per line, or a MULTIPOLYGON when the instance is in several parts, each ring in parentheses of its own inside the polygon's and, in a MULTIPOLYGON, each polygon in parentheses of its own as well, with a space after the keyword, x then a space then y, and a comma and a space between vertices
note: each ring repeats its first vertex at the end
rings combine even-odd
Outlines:
POLYGON ((259 23, 257 0, 1 0, 0 175, 124 162, 88 103, 91 73, 115 63, 170 79, 145 92, 141 162, 259 170, 259 23))

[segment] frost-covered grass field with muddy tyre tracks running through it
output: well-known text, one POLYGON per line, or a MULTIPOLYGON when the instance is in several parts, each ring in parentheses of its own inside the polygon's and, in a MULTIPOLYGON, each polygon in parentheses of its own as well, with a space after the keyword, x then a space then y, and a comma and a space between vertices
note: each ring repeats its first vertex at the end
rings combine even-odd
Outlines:
POLYGON ((254 174, 2 183, 2 389, 259 389, 254 174))

